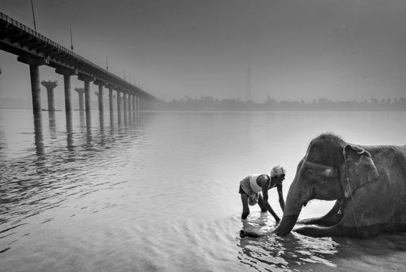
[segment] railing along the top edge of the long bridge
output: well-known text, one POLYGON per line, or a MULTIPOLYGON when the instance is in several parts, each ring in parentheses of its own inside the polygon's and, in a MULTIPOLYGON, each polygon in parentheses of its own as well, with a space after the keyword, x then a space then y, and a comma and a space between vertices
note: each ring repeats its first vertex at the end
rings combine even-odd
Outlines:
MULTIPOLYGON (((68 54, 68 55, 70 55, 71 57, 74 57, 74 58, 80 60, 80 62, 84 62, 85 64, 94 66, 95 68, 97 68, 97 69, 103 71, 104 73, 109 74, 109 76, 115 78, 116 80, 120 80, 120 81, 125 82, 126 84, 128 84, 127 81, 125 81, 125 80, 123 80, 122 78, 116 76, 115 74, 113 74, 113 73, 111 73, 111 72, 109 72, 109 71, 106 71, 106 70, 103 69, 102 67, 97 66, 96 64, 94 64, 94 63, 88 61, 87 59, 85 59, 85 58, 83 58, 83 57, 80 57, 79 55, 77 55, 76 53, 72 52, 71 50, 68 50, 68 49, 64 48, 62 45, 59 45, 58 43, 55 43, 55 41, 52 41, 52 40, 50 40, 49 38, 46 38, 45 36, 39 34, 38 32, 36 32, 36 31, 30 29, 29 27, 25 26, 24 24, 21 24, 20 22, 14 20, 14 19, 11 18, 11 17, 8 17, 6 14, 1 13, 1 12, 0 12, 0 20, 3 20, 3 21, 5 21, 5 22, 7 22, 7 24, 12 24, 14 27, 17 27, 17 28, 20 29, 21 31, 25 32, 26 34, 29 34, 29 35, 31 35, 31 36, 34 36, 34 37, 38 38, 38 40, 42 41, 43 43, 47 43, 48 45, 51 45, 52 47, 56 48, 57 50, 62 51, 62 52, 64 52, 65 54, 68 54)), ((130 84, 131 84, 131 83, 130 83, 130 84)), ((135 87, 136 89, 138 89, 138 90, 140 90, 140 91, 142 91, 142 92, 145 92, 144 90, 139 89, 137 86, 134 86, 134 85, 133 85, 132 87, 135 87)))

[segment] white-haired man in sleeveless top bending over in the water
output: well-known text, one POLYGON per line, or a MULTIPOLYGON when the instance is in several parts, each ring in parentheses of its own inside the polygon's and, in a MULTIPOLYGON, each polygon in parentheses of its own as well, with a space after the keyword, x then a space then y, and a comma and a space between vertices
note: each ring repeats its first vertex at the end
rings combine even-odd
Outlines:
POLYGON ((242 201, 241 219, 244 220, 249 215, 249 206, 258 203, 262 213, 269 211, 276 222, 279 222, 280 218, 268 203, 268 190, 276 187, 279 194, 279 204, 283 211, 285 209, 285 201, 283 200, 282 182, 285 179, 285 175, 286 169, 283 166, 275 165, 272 167, 270 176, 268 174, 257 174, 247 176, 241 180, 239 182, 239 194, 241 194, 242 201), (262 192, 263 198, 260 192, 262 192))

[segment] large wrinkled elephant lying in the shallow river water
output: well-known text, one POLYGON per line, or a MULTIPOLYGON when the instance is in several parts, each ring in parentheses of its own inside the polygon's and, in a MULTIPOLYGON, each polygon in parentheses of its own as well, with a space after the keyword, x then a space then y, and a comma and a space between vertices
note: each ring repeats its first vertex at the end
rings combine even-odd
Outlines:
MULTIPOLYGON (((406 145, 352 145, 335 134, 314 138, 297 165, 279 226, 284 236, 371 237, 406 231, 406 145), (297 221, 311 199, 337 200, 324 216, 297 221)), ((250 236, 243 232, 241 236, 250 236)))

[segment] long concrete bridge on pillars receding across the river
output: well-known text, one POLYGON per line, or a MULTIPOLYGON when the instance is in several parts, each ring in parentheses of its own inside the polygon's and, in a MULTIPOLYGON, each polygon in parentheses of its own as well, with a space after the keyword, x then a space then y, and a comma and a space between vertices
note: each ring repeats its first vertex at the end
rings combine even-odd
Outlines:
MULTIPOLYGON (((0 50, 17 55, 18 62, 29 65, 31 76, 32 109, 38 113, 41 108, 41 87, 39 66, 55 68, 55 73, 64 76, 64 98, 66 113, 71 113, 71 76, 78 76, 84 82, 85 107, 90 111, 90 83, 99 87, 99 110, 104 110, 104 88, 109 90, 109 106, 113 110, 113 91, 117 92, 118 110, 149 110, 155 108, 159 99, 128 83, 126 80, 76 55, 71 50, 45 38, 20 22, 0 13, 0 50), (123 100, 123 103, 120 101, 123 100), (123 106, 123 107, 122 107, 123 106)), ((1 73, 1 70, 0 70, 1 73)), ((48 94, 48 110, 55 110, 53 89, 57 82, 41 83, 48 94)), ((80 96, 80 94, 79 94, 80 96)), ((80 108, 83 110, 83 108, 80 108)))

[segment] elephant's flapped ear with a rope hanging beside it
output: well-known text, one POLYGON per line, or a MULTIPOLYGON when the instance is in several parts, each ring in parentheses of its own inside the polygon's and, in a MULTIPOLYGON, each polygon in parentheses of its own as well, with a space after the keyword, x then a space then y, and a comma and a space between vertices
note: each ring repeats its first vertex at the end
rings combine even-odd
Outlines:
POLYGON ((369 152, 356 145, 346 145, 344 147, 344 176, 349 180, 344 180, 344 196, 348 198, 358 187, 367 182, 379 178, 377 167, 371 159, 369 152), (348 175, 348 176, 347 176, 348 175))

